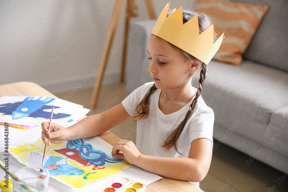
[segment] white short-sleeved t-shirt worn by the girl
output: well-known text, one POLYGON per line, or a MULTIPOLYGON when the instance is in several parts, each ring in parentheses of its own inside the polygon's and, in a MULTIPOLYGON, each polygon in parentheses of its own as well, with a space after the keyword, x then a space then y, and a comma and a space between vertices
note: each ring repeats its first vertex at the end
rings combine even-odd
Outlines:
MULTIPOLYGON (((153 84, 154 82, 149 82, 141 85, 122 101, 129 115, 134 116, 137 104, 146 96, 153 84)), ((196 88, 194 90, 197 91, 196 88)), ((205 104, 200 95, 177 140, 177 149, 183 155, 177 153, 174 147, 171 147, 169 151, 164 151, 161 145, 183 121, 195 96, 179 111, 164 115, 158 106, 160 93, 161 90, 156 89, 150 96, 149 117, 145 120, 137 121, 136 146, 140 151, 152 156, 188 157, 191 142, 194 139, 208 138, 213 144, 214 112, 205 104)), ((197 184, 199 185, 198 182, 195 184, 196 186, 197 184)))

